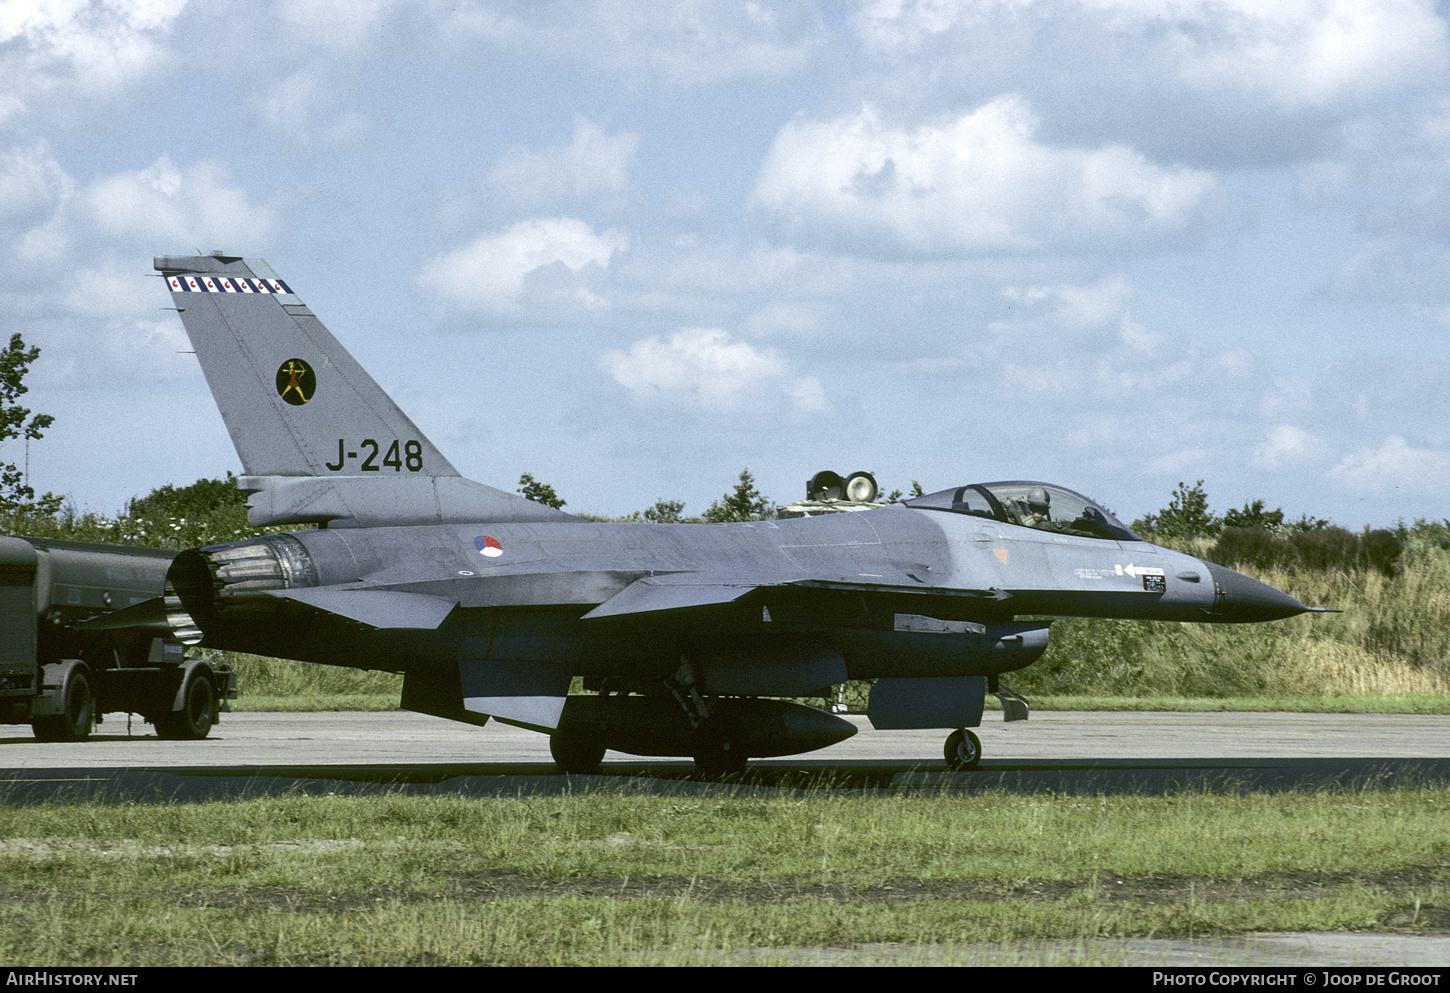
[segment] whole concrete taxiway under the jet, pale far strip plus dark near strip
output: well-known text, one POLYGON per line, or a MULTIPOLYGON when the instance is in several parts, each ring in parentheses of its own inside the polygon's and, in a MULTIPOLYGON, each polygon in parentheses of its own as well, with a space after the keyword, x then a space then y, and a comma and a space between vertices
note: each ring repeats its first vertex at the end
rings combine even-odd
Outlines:
MULTIPOLYGON (((1163 793, 1450 783, 1450 716, 1040 712, 977 729, 985 758, 948 773, 941 731, 861 732, 831 748, 751 763, 760 789, 1163 793)), ((0 738, 13 800, 142 794, 202 800, 274 790, 402 789, 468 794, 583 784, 677 793, 713 789, 683 758, 609 752, 599 776, 560 776, 539 734, 407 712, 229 713, 197 742, 160 741, 123 718, 81 744, 0 738)))

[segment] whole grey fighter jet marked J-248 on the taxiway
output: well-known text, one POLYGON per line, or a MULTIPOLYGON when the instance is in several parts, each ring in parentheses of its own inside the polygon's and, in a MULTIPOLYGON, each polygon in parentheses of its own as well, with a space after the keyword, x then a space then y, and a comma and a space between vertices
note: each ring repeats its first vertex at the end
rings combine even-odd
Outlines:
POLYGON ((606 748, 710 773, 854 725, 789 702, 873 680, 874 728, 954 729, 1047 648, 1043 616, 1250 622, 1308 610, 1150 545, 1070 490, 957 486, 857 513, 593 523, 458 475, 258 259, 164 255, 254 525, 310 529, 181 552, 188 644, 403 674, 403 706, 548 734, 567 771, 606 748), (587 693, 570 694, 580 678, 587 693))

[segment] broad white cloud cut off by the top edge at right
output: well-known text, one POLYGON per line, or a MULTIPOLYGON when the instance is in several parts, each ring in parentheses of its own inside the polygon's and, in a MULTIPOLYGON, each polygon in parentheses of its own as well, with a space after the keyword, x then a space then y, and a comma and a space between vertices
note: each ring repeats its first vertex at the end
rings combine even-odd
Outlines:
POLYGON ((867 0, 851 26, 889 58, 919 58, 942 43, 996 45, 990 65, 963 61, 960 74, 1031 52, 1053 68, 1090 62, 1128 83, 1240 94, 1283 110, 1356 103, 1425 80, 1444 71, 1447 55, 1431 0, 867 0))

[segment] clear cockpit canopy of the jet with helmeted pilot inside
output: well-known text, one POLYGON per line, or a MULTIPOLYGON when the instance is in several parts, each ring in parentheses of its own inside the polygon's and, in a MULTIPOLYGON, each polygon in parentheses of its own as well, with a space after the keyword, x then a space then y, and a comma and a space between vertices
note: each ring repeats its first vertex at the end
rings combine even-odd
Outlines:
POLYGON ((1060 535, 1143 541, 1121 520, 1082 493, 1047 483, 1024 480, 972 483, 906 500, 906 506, 921 510, 967 513, 974 518, 1060 535))

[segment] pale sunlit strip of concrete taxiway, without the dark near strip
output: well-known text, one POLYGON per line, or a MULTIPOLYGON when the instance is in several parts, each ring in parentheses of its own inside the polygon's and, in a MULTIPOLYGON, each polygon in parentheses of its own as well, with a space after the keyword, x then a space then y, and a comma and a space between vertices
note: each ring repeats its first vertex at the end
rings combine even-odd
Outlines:
MULTIPOLYGON (((941 764, 945 731, 873 731, 866 718, 847 718, 860 732, 838 745, 773 764, 886 761, 941 764)), ((0 734, 0 765, 33 768, 84 758, 103 768, 274 764, 303 758, 318 764, 355 763, 550 763, 544 735, 492 722, 484 728, 406 710, 326 713, 226 713, 206 741, 160 741, 136 720, 112 715, 91 741, 42 744, 23 725, 0 734)), ((1405 713, 1201 713, 1040 710, 1031 720, 987 719, 976 729, 985 764, 1204 758, 1450 758, 1450 715, 1405 713)), ((609 752, 608 764, 638 764, 609 752)))

